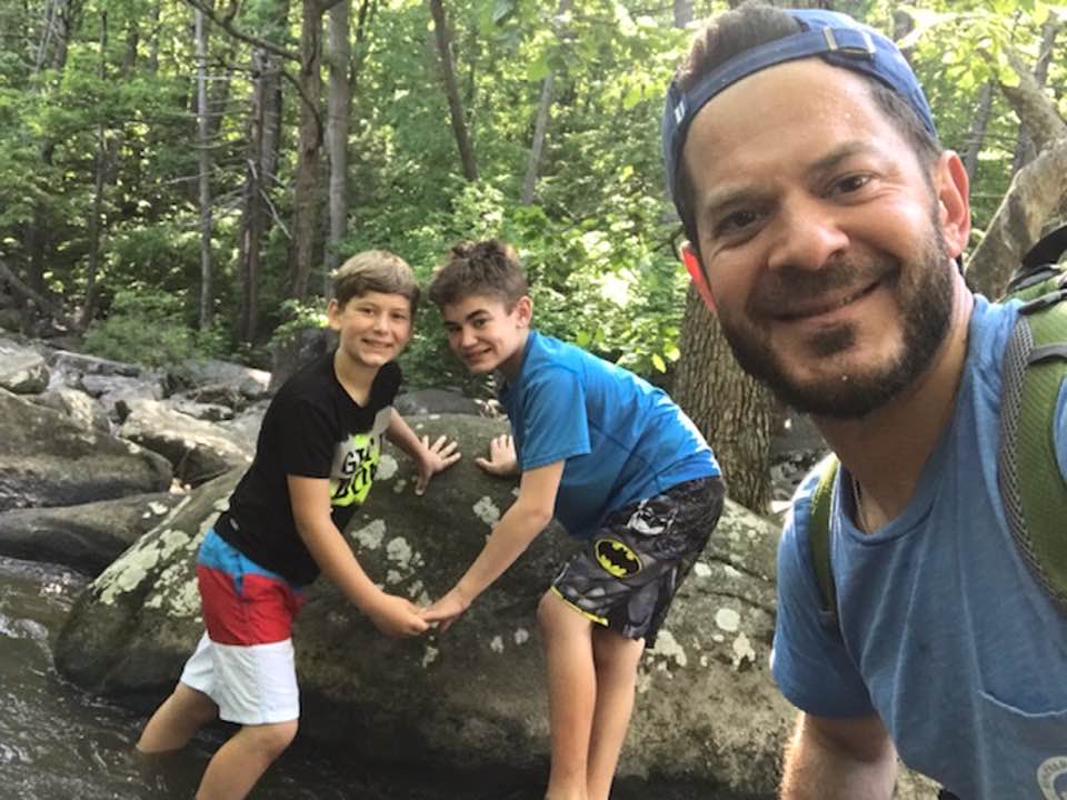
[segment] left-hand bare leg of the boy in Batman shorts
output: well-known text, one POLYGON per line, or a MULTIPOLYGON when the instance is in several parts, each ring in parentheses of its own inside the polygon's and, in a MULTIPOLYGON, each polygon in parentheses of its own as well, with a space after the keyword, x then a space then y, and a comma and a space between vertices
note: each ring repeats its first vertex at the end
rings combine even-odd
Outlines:
POLYGON ((597 699, 592 622, 555 592, 537 609, 548 664, 551 770, 547 800, 586 800, 589 736, 597 699))

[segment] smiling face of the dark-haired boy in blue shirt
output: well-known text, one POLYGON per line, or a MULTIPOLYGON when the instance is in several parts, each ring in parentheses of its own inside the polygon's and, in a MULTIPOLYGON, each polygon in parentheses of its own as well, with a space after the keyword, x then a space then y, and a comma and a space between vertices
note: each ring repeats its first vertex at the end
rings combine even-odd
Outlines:
POLYGON ((530 332, 532 302, 521 297, 508 309, 489 294, 470 294, 441 308, 448 344, 468 370, 485 374, 499 369, 508 378, 518 374, 530 332))

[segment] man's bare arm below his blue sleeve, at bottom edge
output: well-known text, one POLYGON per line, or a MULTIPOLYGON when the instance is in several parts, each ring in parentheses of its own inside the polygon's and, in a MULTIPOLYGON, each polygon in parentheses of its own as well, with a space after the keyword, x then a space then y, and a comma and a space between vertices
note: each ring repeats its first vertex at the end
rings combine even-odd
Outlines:
POLYGON ((897 752, 877 716, 801 713, 786 751, 782 800, 890 800, 897 752))

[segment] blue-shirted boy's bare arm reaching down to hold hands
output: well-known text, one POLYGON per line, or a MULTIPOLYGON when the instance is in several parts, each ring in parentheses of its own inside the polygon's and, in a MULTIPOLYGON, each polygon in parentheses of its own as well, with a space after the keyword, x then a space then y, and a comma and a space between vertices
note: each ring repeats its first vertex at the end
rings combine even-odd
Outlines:
POLYGON ((545 530, 556 508, 564 463, 555 461, 522 473, 519 497, 492 529, 486 547, 451 591, 422 612, 422 619, 440 622, 441 630, 447 630, 545 530))

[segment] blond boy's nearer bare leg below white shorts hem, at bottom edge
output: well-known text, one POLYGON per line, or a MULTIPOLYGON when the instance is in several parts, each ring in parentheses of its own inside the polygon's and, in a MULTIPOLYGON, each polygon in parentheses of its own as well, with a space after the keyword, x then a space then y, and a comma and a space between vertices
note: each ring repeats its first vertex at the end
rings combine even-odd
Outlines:
POLYGON ((297 720, 245 726, 215 754, 197 800, 241 800, 297 734, 297 720))

